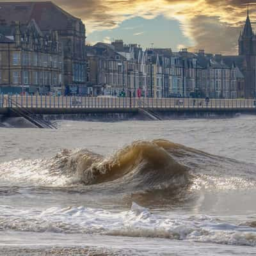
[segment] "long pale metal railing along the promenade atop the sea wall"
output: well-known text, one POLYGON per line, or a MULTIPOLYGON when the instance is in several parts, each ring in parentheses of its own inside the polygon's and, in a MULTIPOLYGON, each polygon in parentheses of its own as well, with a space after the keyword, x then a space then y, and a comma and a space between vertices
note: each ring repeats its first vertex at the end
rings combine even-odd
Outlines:
POLYGON ((0 94, 0 108, 256 108, 250 99, 177 99, 77 97, 54 95, 0 94), (13 104, 16 102, 16 104, 13 104))

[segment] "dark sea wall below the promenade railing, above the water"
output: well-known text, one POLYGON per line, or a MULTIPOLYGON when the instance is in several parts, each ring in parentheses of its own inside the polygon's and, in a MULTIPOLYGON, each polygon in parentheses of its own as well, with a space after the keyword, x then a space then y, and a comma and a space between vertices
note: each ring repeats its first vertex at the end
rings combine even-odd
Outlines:
MULTIPOLYGON (((162 120, 186 118, 233 118, 237 115, 255 115, 256 108, 152 108, 162 120)), ((87 120, 118 122, 122 120, 150 120, 138 108, 32 108, 28 111, 45 120, 87 120)), ((0 123, 19 115, 8 108, 0 108, 0 123)))

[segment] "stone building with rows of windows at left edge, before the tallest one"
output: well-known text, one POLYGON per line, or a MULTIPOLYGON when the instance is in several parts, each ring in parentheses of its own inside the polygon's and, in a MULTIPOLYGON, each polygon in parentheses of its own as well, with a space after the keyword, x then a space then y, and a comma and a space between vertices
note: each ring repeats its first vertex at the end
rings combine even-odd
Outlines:
POLYGON ((42 32, 35 20, 0 24, 0 90, 47 93, 63 85, 63 54, 58 31, 42 32))

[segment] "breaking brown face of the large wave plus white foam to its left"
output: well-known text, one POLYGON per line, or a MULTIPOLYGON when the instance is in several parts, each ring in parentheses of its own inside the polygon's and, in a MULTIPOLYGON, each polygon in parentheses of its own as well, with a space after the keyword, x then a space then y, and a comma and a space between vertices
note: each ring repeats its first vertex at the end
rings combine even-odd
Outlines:
MULTIPOLYGON (((188 181, 188 167, 167 150, 168 141, 138 141, 103 157, 88 150, 63 150, 51 159, 17 160, 0 166, 0 179, 32 182, 39 186, 102 184, 132 181, 134 186, 157 186, 177 179, 188 181)), ((174 151, 173 151, 174 152, 174 151)))

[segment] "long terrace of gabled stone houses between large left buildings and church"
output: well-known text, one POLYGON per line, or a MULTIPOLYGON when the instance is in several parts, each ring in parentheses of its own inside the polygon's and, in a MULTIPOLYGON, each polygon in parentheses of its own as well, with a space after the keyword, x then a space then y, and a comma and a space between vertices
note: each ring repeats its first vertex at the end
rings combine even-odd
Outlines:
POLYGON ((132 97, 211 97, 234 99, 243 86, 243 74, 225 56, 182 49, 146 49, 98 43, 87 47, 93 94, 132 97), (224 58, 225 57, 225 58, 224 58), (239 86, 238 83, 239 82, 239 86))

